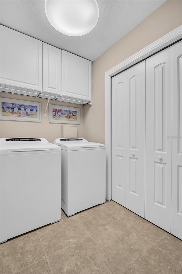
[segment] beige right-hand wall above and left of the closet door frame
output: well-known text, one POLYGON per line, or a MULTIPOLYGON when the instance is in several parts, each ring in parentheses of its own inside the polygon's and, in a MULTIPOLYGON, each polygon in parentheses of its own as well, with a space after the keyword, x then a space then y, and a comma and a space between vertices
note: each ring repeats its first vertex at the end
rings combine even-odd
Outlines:
POLYGON ((105 72, 182 24, 182 1, 166 1, 93 62, 93 104, 84 106, 84 136, 105 142, 105 72))

